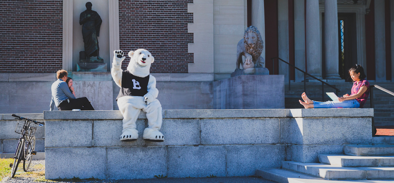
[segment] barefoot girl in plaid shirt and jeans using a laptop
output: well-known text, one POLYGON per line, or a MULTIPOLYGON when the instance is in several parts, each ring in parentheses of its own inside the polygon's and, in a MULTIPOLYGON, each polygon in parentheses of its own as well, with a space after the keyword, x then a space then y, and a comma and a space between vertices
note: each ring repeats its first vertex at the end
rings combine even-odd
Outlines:
POLYGON ((370 85, 365 80, 364 69, 356 64, 349 69, 349 75, 354 81, 350 95, 346 93, 343 97, 338 97, 338 101, 319 102, 312 101, 304 92, 301 94, 304 102, 299 100, 299 103, 305 108, 362 108, 370 93, 370 85))

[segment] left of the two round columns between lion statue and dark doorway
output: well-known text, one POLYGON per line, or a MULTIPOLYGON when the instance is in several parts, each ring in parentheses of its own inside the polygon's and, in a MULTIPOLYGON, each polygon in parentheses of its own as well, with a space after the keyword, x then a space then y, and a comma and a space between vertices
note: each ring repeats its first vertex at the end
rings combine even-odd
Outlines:
POLYGON ((307 73, 322 78, 322 54, 320 44, 319 1, 307 0, 306 4, 307 73))

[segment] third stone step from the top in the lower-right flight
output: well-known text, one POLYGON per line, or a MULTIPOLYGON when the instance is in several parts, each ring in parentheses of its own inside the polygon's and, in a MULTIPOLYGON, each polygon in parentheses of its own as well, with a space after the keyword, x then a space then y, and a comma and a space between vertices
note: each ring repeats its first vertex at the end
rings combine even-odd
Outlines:
POLYGON ((282 168, 318 176, 327 180, 338 179, 394 179, 394 167, 341 167, 322 163, 283 161, 282 168))

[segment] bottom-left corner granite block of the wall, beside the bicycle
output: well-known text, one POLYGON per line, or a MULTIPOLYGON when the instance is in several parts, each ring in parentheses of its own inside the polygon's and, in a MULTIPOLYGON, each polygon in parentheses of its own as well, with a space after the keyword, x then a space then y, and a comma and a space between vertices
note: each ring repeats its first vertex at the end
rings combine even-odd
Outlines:
POLYGON ((45 148, 45 179, 106 179, 105 157, 106 148, 45 148))

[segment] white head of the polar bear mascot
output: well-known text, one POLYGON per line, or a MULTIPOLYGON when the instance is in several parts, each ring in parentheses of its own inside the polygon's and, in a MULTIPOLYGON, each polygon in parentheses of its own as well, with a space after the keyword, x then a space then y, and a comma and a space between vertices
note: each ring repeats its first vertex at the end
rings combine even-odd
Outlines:
POLYGON ((131 59, 127 66, 127 70, 134 76, 141 78, 147 77, 151 64, 154 62, 151 52, 145 49, 138 49, 128 52, 128 56, 131 59))

